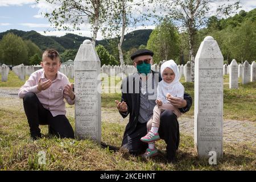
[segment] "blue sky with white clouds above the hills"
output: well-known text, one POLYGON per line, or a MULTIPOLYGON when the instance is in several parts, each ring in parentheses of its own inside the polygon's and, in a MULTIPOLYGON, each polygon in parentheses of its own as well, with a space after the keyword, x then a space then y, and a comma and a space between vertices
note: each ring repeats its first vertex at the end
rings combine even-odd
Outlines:
MULTIPOLYGON (((241 6, 241 9, 250 11, 256 8, 256 0, 241 0, 241 6)), ((38 5, 34 0, 0 0, 0 32, 17 29, 23 31, 35 30, 43 35, 65 35, 67 31, 53 31, 48 20, 40 15, 40 12, 51 8, 52 6, 43 1, 38 5), (47 31, 46 34, 44 34, 44 31, 47 31)), ((147 26, 146 28, 154 28, 154 26, 147 26)), ((142 29, 142 27, 137 27, 137 29, 142 29)), ((88 24, 82 27, 81 31, 72 33, 91 36, 88 24)), ((97 39, 102 39, 101 32, 99 32, 97 39)))

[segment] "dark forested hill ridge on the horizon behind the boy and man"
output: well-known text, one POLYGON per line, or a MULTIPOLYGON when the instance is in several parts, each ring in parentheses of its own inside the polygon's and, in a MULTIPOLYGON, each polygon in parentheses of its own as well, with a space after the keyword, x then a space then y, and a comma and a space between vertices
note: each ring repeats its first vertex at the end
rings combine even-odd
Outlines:
MULTIPOLYGON (((31 40, 34 42, 40 49, 44 50, 46 48, 52 47, 57 49, 59 52, 64 52, 65 49, 78 49, 80 44, 85 39, 90 39, 85 36, 79 36, 75 34, 66 34, 64 36, 56 37, 56 36, 44 36, 39 34, 36 31, 20 31, 20 30, 8 30, 6 32, 0 33, 0 40, 3 35, 13 32, 13 34, 22 37, 24 40, 31 40)), ((151 34, 152 30, 136 30, 130 32, 125 35, 125 39, 123 41, 123 50, 127 51, 131 48, 138 48, 142 44, 146 46, 147 40, 151 34)), ((102 46, 108 49, 109 43, 114 41, 117 42, 118 39, 105 39, 105 40, 97 40, 96 46, 101 44, 102 46)))

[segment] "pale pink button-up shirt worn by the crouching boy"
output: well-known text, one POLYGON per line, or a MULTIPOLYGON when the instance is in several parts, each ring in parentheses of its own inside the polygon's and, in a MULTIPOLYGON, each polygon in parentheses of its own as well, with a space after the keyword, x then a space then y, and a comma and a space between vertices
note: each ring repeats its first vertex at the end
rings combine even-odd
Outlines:
POLYGON ((63 95, 65 86, 70 84, 68 77, 63 73, 57 72, 57 77, 52 81, 51 86, 42 91, 39 91, 37 88, 39 78, 42 78, 42 82, 47 81, 47 78, 44 76, 44 69, 39 69, 30 75, 30 78, 28 78, 26 83, 19 89, 19 98, 23 98, 28 92, 34 92, 43 107, 51 111, 53 117, 56 115, 65 115, 64 98, 69 105, 75 104, 75 99, 71 100, 69 96, 66 96, 66 98, 63 95))

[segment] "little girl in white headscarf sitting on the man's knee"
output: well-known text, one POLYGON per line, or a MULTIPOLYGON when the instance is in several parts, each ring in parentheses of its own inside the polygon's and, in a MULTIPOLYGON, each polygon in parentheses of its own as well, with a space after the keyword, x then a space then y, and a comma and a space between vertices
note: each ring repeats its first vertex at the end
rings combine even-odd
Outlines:
POLYGON ((160 114, 162 111, 165 109, 172 110, 177 118, 181 115, 180 110, 168 101, 169 97, 183 98, 184 95, 184 86, 181 85, 179 81, 180 73, 178 71, 177 64, 174 60, 164 62, 161 65, 160 73, 163 80, 158 84, 156 106, 154 107, 152 118, 147 123, 147 126, 152 124, 152 127, 147 135, 141 138, 142 142, 148 143, 148 148, 143 154, 143 157, 145 158, 150 158, 158 154, 158 151, 155 148, 155 141, 160 139, 158 129, 160 124, 160 114))

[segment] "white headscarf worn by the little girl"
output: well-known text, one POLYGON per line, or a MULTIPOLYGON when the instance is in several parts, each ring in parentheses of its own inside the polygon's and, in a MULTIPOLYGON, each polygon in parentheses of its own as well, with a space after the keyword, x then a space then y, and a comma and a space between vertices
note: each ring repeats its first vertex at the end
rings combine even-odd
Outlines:
MULTIPOLYGON (((177 64, 174 62, 174 60, 168 60, 168 61, 165 61, 162 65, 161 65, 161 69, 160 69, 160 73, 161 73, 161 76, 163 78, 163 71, 164 69, 166 68, 171 68, 172 71, 174 71, 174 74, 175 74, 175 78, 174 78, 174 81, 172 81, 170 84, 168 84, 167 82, 163 81, 164 82, 164 85, 168 85, 168 86, 173 86, 175 85, 177 82, 180 81, 180 71, 179 69, 177 68, 177 64)), ((166 85, 166 86, 167 86, 166 85)))

